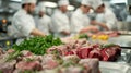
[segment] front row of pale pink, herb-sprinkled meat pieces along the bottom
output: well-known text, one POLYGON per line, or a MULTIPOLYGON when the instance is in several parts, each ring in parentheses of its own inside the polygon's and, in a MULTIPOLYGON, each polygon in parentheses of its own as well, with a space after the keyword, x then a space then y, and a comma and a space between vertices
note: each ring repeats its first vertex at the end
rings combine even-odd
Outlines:
POLYGON ((99 73, 98 59, 83 59, 78 56, 35 56, 29 51, 8 50, 0 56, 1 73, 99 73), (10 56, 13 57, 10 57, 10 56), (9 59, 10 60, 7 60, 9 59), (78 64, 76 64, 78 63, 78 64))

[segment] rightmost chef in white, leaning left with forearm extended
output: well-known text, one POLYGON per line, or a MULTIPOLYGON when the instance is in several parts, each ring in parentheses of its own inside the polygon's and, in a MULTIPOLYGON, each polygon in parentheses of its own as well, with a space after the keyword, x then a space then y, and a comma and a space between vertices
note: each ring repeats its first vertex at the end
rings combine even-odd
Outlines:
POLYGON ((96 21, 92 21, 92 24, 97 24, 106 31, 117 29, 117 17, 115 13, 109 8, 106 8, 102 0, 92 1, 92 7, 97 13, 96 21))

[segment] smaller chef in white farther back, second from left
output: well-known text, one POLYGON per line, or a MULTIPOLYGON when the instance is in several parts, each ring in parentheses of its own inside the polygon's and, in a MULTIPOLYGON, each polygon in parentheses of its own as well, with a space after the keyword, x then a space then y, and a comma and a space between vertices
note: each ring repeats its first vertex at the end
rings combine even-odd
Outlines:
POLYGON ((45 33, 46 35, 50 35, 50 25, 51 17, 46 14, 46 8, 44 5, 39 5, 38 8, 38 20, 37 20, 37 28, 45 33))

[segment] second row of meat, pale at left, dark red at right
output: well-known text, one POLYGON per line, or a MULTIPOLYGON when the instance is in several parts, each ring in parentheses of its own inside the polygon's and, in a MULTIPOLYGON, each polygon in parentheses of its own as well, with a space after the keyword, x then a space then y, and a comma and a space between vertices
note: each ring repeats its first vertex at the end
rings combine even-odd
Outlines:
POLYGON ((116 61, 121 54, 121 48, 118 45, 90 45, 84 40, 52 47, 47 50, 48 53, 53 51, 63 57, 76 54, 81 59, 97 58, 100 61, 116 61))

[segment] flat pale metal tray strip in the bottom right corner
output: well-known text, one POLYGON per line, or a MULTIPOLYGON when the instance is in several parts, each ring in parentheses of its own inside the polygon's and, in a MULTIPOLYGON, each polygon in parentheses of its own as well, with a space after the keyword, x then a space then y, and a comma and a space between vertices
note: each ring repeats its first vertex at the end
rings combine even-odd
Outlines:
POLYGON ((128 64, 115 62, 100 62, 99 69, 102 73, 131 73, 131 68, 128 64))

